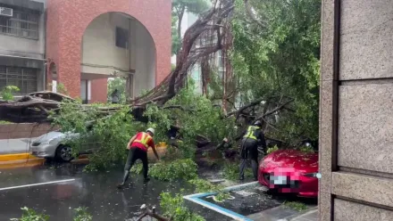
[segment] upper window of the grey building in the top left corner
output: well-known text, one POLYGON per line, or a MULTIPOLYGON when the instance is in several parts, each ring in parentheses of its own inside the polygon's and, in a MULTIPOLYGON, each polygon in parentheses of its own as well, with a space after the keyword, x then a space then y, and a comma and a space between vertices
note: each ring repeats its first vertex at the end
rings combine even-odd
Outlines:
POLYGON ((13 17, 0 16, 0 34, 38 39, 38 13, 13 11, 13 17))

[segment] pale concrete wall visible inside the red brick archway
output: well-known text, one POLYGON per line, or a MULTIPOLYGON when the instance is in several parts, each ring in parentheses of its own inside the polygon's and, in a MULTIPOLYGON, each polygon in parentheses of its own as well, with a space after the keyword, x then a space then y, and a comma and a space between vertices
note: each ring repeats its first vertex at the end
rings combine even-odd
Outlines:
MULTIPOLYGON (((155 86, 155 59, 155 43, 146 28, 128 15, 108 12, 93 20, 85 31, 81 78, 107 78, 114 71, 132 70, 135 71, 133 94, 138 96, 155 86), (130 30, 130 49, 115 45, 116 27, 130 30)), ((92 90, 92 95, 94 93, 92 90)))

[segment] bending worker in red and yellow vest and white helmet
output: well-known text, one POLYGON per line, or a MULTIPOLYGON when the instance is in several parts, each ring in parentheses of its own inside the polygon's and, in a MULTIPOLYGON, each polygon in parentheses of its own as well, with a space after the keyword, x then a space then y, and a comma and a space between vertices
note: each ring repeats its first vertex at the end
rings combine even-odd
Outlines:
POLYGON ((121 184, 118 184, 118 188, 124 186, 127 182, 127 179, 130 176, 130 169, 134 165, 135 161, 140 159, 143 164, 143 176, 145 177, 145 182, 149 181, 150 178, 147 176, 148 172, 148 162, 147 162, 147 149, 151 147, 155 152, 155 157, 157 160, 160 160, 158 157, 157 151, 155 151, 155 141, 153 140, 153 136, 155 135, 154 128, 148 128, 146 132, 139 132, 137 135, 134 135, 130 142, 127 144, 127 149, 129 150, 129 155, 127 157, 126 166, 124 167, 124 176, 121 184))

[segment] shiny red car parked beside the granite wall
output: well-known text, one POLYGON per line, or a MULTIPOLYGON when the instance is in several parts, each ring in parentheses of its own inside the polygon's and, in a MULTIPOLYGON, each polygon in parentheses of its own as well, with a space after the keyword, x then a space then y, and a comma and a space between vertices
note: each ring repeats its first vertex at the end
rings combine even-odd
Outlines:
POLYGON ((259 184, 301 197, 318 196, 318 153, 295 150, 273 151, 261 160, 259 184))

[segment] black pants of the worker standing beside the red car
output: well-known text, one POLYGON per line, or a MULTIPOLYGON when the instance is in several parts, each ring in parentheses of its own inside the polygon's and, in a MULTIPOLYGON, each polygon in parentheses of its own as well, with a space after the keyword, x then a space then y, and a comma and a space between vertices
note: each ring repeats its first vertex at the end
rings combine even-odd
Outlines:
POLYGON ((255 180, 258 178, 258 147, 256 143, 243 143, 240 161, 240 178, 244 178, 244 170, 247 166, 247 160, 251 160, 251 167, 255 180))

